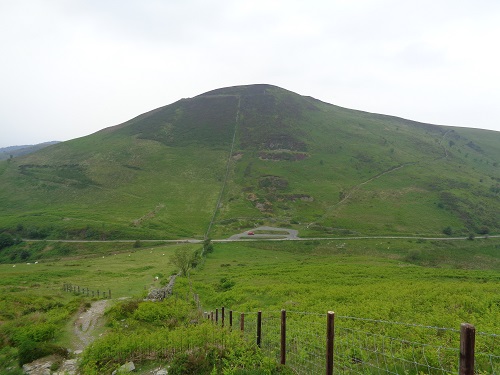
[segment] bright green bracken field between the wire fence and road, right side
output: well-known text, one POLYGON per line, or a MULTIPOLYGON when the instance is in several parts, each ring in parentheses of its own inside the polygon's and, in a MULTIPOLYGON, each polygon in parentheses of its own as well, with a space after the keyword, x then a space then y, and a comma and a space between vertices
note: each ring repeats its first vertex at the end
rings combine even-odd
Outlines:
POLYGON ((326 313, 495 332, 500 241, 216 244, 192 273, 206 309, 326 313), (231 288, 220 292, 221 280, 231 288))

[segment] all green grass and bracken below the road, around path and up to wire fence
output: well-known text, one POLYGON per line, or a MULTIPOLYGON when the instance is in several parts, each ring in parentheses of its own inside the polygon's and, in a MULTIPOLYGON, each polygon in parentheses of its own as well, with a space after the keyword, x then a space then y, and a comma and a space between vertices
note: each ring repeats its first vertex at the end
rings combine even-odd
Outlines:
MULTIPOLYGON (((500 240, 495 238, 207 241, 206 258, 189 277, 177 278, 174 296, 164 302, 142 299, 149 288, 165 285, 177 273, 172 263, 176 252, 194 254, 201 245, 137 249, 131 242, 129 251, 116 253, 101 245, 93 257, 82 247, 95 251, 96 244, 67 246, 78 247, 82 255, 0 265, 4 369, 49 353, 66 355, 64 348, 71 347, 66 324, 92 302, 85 293, 62 290, 78 281, 86 284, 82 289, 110 288, 115 301, 106 313, 107 334, 82 356, 84 374, 107 373, 129 359, 167 363, 179 373, 193 367, 207 374, 286 373, 253 342, 202 318, 202 311, 222 306, 249 313, 334 310, 340 316, 447 328, 469 322, 491 333, 497 333, 500 320, 500 240)), ((403 334, 395 329, 388 334, 403 334)))

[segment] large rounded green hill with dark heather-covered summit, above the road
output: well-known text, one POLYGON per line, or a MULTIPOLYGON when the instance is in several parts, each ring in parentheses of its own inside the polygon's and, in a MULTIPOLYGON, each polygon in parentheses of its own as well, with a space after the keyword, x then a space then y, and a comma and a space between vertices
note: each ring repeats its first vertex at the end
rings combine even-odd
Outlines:
POLYGON ((87 239, 226 238, 263 224, 322 237, 499 233, 499 161, 498 132, 229 87, 0 162, 0 228, 87 239))

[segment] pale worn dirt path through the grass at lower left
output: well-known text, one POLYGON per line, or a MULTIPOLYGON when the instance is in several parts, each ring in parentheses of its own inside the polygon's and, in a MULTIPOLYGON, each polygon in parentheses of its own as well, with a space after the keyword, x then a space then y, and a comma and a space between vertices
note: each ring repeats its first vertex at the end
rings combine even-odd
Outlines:
POLYGON ((104 324, 104 311, 108 305, 108 300, 100 300, 83 311, 73 325, 74 340, 72 350, 74 352, 83 351, 96 338, 96 329, 104 324))

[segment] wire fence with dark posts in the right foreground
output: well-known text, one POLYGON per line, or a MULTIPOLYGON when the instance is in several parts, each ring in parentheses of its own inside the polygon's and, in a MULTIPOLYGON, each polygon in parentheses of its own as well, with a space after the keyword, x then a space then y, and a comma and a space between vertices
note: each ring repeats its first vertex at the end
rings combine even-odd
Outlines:
MULTIPOLYGON (((275 311, 229 311, 229 323, 224 309, 206 317, 242 330, 247 340, 296 374, 324 374, 327 369, 327 314, 287 311, 285 324, 283 312, 275 311)), ((334 374, 500 375, 497 334, 474 329, 472 357, 467 359, 461 329, 335 316, 333 332, 334 374), (464 372, 470 361, 471 372, 464 372)))

